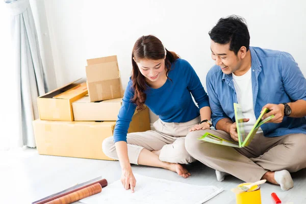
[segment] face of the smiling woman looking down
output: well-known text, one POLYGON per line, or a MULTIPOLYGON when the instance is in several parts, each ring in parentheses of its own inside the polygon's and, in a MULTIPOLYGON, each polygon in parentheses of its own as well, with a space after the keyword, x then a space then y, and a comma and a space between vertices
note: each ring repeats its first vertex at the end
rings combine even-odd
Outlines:
POLYGON ((135 62, 141 74, 144 75, 148 83, 157 83, 166 74, 165 59, 160 59, 160 60, 141 59, 135 62))

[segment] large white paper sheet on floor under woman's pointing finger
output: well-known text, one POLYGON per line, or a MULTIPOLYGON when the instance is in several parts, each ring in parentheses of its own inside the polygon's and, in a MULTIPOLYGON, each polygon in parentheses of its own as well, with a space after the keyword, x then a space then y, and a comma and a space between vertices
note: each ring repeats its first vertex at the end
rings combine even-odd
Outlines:
POLYGON ((109 184, 101 193, 84 198, 79 202, 94 203, 190 203, 201 204, 223 190, 215 186, 197 186, 181 182, 172 182, 135 174, 135 192, 125 190, 120 180, 109 184))

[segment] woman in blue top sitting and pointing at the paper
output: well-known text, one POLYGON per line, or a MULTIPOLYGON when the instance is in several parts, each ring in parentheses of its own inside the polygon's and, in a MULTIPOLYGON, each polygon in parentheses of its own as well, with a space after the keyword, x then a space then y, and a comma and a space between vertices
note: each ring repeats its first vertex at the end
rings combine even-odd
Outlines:
POLYGON ((119 160, 121 182, 134 192, 136 180, 130 163, 162 167, 185 178, 190 175, 181 165, 195 161, 185 149, 185 137, 192 130, 210 129, 211 110, 194 69, 157 37, 142 36, 136 41, 132 65, 114 136, 104 140, 103 151, 119 160), (154 123, 156 130, 127 134, 135 109, 144 105, 160 117, 154 123))

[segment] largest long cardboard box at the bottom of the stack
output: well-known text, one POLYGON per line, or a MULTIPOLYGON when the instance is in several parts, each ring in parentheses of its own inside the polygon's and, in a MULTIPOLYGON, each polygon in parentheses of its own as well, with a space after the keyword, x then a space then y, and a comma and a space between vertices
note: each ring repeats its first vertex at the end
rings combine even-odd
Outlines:
MULTIPOLYGON (((104 155, 102 142, 113 135, 115 121, 33 121, 36 146, 40 155, 113 160, 104 155)), ((149 110, 133 116, 129 133, 150 130, 149 110)))

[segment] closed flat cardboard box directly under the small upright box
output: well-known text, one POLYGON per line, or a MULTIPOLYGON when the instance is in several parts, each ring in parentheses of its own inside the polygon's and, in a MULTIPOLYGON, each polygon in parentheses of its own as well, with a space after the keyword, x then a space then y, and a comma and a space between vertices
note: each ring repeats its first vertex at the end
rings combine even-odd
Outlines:
POLYGON ((72 103, 75 121, 116 121, 122 105, 122 98, 90 102, 84 96, 72 103))

